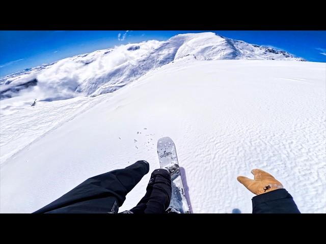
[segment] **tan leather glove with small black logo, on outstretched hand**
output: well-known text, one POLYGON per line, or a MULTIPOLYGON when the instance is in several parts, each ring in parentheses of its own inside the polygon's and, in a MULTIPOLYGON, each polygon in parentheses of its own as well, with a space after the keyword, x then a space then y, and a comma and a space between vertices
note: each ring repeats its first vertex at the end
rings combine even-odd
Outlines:
POLYGON ((237 180, 256 195, 283 188, 280 181, 261 169, 253 169, 251 173, 254 175, 254 179, 238 176, 237 180))

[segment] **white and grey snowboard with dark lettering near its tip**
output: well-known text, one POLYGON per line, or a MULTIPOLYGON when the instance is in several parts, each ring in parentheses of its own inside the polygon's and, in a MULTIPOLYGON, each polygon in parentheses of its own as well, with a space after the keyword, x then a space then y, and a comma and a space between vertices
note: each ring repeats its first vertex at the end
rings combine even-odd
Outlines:
MULTIPOLYGON (((179 165, 175 144, 170 137, 163 137, 157 141, 157 154, 160 168, 165 168, 170 164, 179 165)), ((191 211, 185 195, 180 171, 171 177, 171 181, 172 195, 167 212, 190 214, 191 211)))

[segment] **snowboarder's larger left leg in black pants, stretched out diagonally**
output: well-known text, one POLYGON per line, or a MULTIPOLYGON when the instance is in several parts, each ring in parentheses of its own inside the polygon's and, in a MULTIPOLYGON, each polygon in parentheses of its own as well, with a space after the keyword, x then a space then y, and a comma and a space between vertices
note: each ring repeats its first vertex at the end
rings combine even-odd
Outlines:
POLYGON ((127 193, 148 171, 146 161, 137 161, 94 176, 34 213, 117 213, 127 193))

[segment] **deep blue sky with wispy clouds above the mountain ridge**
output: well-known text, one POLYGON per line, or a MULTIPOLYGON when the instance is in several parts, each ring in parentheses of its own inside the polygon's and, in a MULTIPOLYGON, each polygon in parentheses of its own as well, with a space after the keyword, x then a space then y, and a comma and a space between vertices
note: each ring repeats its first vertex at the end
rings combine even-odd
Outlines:
MULTIPOLYGON (((65 57, 146 40, 206 31, 0 31, 0 77, 65 57)), ((211 31, 326 62, 326 31, 211 31)))

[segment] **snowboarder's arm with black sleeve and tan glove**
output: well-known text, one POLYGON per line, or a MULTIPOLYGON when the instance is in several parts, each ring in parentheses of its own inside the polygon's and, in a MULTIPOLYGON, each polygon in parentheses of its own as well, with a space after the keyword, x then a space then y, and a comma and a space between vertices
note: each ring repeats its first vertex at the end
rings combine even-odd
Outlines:
POLYGON ((254 179, 238 176, 237 180, 257 196, 252 198, 253 214, 300 214, 292 196, 273 175, 253 169, 254 179))

